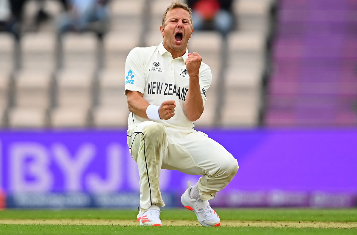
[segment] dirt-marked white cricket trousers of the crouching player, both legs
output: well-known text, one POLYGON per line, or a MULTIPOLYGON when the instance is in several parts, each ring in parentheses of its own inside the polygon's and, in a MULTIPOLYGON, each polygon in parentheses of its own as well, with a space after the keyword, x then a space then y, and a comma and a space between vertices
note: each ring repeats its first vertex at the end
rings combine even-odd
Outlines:
POLYGON ((140 207, 164 207, 160 169, 202 175, 197 187, 202 200, 210 200, 232 181, 237 160, 222 145, 203 132, 165 128, 145 121, 128 131, 128 146, 140 175, 140 207))

